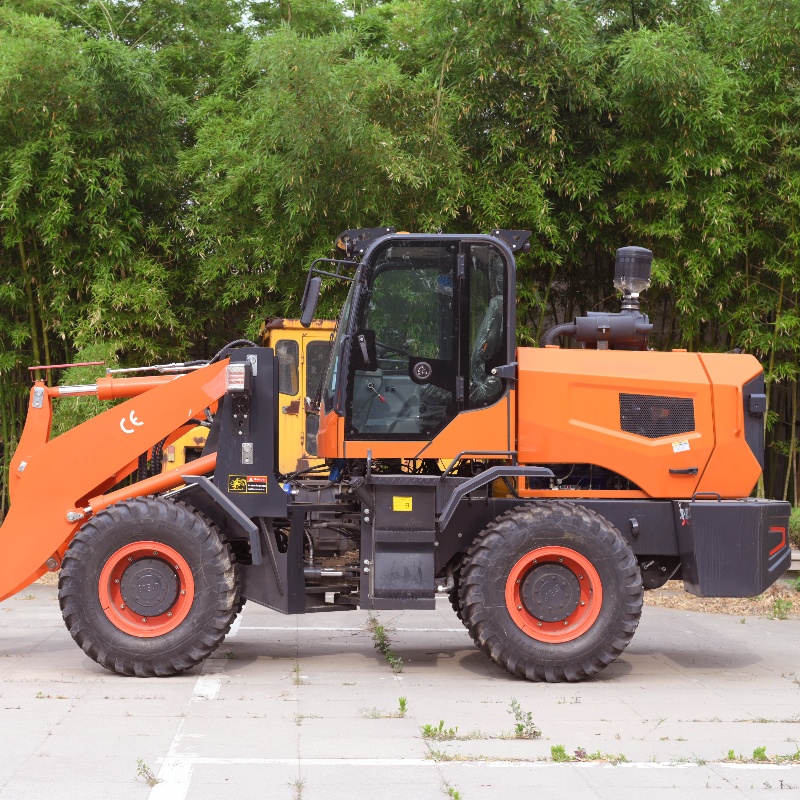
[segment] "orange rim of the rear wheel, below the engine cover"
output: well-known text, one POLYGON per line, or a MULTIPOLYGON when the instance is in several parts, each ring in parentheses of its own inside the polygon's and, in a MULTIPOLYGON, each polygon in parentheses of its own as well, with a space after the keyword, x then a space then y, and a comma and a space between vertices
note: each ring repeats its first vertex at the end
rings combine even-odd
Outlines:
POLYGON ((568 547, 539 547, 512 567, 505 599, 514 624, 531 638, 571 642, 597 620, 603 587, 585 556, 568 547))

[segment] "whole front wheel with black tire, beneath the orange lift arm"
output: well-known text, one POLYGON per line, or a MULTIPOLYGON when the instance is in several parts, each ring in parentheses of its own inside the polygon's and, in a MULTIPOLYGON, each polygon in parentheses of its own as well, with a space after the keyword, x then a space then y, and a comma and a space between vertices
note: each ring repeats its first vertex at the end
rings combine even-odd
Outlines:
POLYGON ((121 675, 175 675, 212 653, 239 608, 230 547, 183 503, 141 497, 99 512, 64 556, 67 629, 121 675))

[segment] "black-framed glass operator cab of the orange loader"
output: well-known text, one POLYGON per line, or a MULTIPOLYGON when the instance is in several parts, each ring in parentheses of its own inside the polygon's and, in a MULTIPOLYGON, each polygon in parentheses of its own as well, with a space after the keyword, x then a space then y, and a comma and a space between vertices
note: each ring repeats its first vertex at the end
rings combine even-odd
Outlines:
POLYGON ((512 247, 527 235, 509 244, 498 235, 378 231, 366 244, 363 232, 348 232, 361 234, 362 258, 321 417, 344 417, 345 440, 430 441, 462 412, 507 393, 508 381, 493 371, 514 360, 512 247))

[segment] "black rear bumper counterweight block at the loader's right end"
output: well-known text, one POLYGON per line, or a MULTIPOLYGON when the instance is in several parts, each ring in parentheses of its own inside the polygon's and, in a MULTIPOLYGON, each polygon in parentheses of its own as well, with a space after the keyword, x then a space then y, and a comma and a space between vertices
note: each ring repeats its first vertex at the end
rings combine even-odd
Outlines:
POLYGON ((687 592, 755 597, 789 568, 789 503, 676 500, 673 508, 687 592))

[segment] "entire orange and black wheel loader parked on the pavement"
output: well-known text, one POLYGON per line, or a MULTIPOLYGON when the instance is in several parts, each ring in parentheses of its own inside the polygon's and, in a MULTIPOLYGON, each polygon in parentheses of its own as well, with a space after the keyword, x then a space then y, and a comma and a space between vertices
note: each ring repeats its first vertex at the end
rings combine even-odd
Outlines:
POLYGON ((174 372, 31 390, 0 529, 0 598, 60 570, 67 628, 123 675, 200 663, 245 601, 285 614, 433 609, 509 673, 577 681, 630 642, 643 592, 763 592, 789 505, 750 494, 766 397, 750 355, 654 352, 652 254, 617 251, 617 313, 516 346, 528 231, 344 232, 312 263, 349 284, 313 399, 327 475, 282 471, 275 351, 231 343, 174 372), (574 346, 560 347, 571 343, 574 346), (49 438, 59 397, 122 400, 49 438), (138 460, 209 422, 199 458, 138 460), (95 451, 94 459, 75 454, 95 451))

